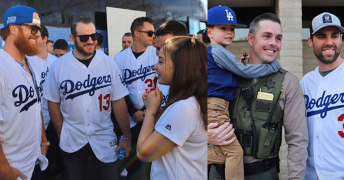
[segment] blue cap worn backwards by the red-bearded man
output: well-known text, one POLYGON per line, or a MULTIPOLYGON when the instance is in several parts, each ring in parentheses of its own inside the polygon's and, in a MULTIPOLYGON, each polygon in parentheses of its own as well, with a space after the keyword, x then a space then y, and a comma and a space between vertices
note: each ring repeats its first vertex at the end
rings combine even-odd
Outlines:
MULTIPOLYGON (((35 9, 26 5, 14 5, 7 9, 3 16, 3 28, 13 24, 39 23, 41 21, 33 19, 35 9)), ((3 29, 1 28, 1 30, 3 29)))

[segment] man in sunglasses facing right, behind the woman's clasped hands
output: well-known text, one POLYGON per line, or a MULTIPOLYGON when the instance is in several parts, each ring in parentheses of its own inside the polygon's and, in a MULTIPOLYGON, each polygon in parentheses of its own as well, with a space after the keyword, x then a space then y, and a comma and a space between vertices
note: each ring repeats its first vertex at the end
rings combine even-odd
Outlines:
POLYGON ((152 45, 155 37, 152 19, 139 17, 130 27, 133 36, 131 47, 115 56, 119 69, 122 70, 121 79, 129 91, 126 97, 128 105, 130 128, 133 136, 130 166, 127 166, 127 179, 149 179, 149 163, 143 163, 136 156, 136 142, 144 118, 144 104, 142 95, 145 89, 154 86, 154 64, 158 62, 155 48, 152 45))

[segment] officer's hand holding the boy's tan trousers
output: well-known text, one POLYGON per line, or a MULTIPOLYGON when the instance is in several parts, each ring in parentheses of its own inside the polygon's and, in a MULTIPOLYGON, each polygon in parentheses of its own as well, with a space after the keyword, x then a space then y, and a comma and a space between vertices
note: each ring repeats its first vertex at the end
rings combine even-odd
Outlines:
POLYGON ((208 143, 218 146, 228 145, 234 142, 236 137, 226 141, 229 137, 234 134, 233 124, 226 122, 221 126, 217 127, 218 123, 210 123, 208 125, 208 143))

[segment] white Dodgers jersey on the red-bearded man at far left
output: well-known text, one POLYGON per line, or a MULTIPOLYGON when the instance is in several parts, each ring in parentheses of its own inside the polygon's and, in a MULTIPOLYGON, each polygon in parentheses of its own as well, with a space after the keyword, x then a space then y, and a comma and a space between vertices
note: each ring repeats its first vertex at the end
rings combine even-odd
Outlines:
MULTIPOLYGON (((42 119, 40 91, 33 76, 0 49, 0 141, 3 153, 11 167, 17 168, 28 179, 39 159, 41 169, 48 160, 41 153, 42 119)), ((32 73, 37 74, 32 68, 32 73)), ((36 77, 41 90, 40 78, 36 77)))

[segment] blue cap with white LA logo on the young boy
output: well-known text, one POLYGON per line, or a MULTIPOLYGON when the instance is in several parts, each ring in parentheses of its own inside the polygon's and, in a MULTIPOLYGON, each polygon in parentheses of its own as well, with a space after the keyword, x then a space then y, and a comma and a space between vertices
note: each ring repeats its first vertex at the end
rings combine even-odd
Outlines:
POLYGON ((239 24, 234 11, 227 6, 218 5, 208 10, 208 24, 233 24, 235 27, 247 27, 239 24))

